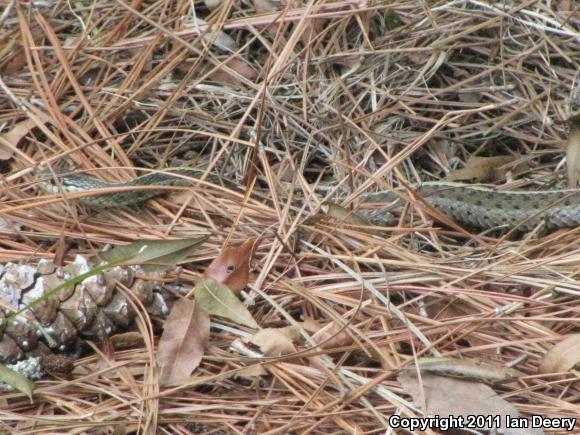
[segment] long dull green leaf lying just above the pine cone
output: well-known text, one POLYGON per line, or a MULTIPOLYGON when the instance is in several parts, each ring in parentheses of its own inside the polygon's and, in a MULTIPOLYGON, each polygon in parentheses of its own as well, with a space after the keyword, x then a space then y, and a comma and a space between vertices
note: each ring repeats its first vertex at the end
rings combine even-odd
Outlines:
POLYGON ((139 240, 100 253, 99 257, 107 261, 129 257, 125 264, 140 264, 146 272, 157 272, 175 266, 208 238, 209 235, 187 239, 139 240))

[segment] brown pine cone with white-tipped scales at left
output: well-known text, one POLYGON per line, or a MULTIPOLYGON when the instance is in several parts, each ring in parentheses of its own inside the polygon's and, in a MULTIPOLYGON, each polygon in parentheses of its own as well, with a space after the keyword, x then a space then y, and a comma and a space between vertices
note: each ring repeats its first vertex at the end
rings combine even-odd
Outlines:
POLYGON ((14 363, 39 347, 64 352, 78 348, 83 338, 98 340, 126 329, 136 313, 118 286, 129 289, 152 315, 167 314, 165 299, 156 291, 157 283, 137 278, 138 266, 117 266, 96 273, 33 304, 91 269, 90 261, 81 255, 64 267, 40 260, 37 265, 7 263, 0 268, 0 362, 14 363), (11 312, 30 304, 29 310, 10 318, 11 312))

